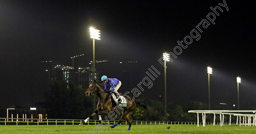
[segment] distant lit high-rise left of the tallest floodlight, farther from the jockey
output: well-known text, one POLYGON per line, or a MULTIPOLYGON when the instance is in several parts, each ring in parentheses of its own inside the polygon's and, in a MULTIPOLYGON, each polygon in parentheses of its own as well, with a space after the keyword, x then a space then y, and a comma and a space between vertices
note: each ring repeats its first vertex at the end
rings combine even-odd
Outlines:
POLYGON ((69 81, 74 81, 74 67, 57 65, 53 68, 51 76, 51 80, 67 82, 67 88, 69 88, 69 81))

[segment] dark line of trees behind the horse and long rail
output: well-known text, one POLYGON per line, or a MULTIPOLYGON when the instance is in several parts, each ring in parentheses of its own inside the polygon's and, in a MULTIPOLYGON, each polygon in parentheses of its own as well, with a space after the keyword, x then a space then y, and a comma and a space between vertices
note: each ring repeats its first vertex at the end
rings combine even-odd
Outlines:
MULTIPOLYGON (((44 93, 47 109, 49 109, 47 114, 50 119, 85 119, 94 112, 93 98, 85 97, 86 90, 76 86, 72 81, 69 82, 69 88, 64 81, 53 81, 50 87, 50 90, 44 93)), ((132 120, 197 122, 197 114, 188 113, 188 111, 208 109, 208 104, 204 102, 172 100, 167 102, 167 119, 165 119, 164 102, 150 99, 144 95, 141 95, 139 99, 143 99, 142 101, 149 106, 149 110, 136 108, 130 114, 132 120)), ((216 110, 229 110, 222 105, 212 105, 211 107, 216 110)), ((211 115, 207 115, 206 118, 206 121, 213 121, 211 115)), ((216 118, 216 122, 218 120, 219 118, 216 118)))

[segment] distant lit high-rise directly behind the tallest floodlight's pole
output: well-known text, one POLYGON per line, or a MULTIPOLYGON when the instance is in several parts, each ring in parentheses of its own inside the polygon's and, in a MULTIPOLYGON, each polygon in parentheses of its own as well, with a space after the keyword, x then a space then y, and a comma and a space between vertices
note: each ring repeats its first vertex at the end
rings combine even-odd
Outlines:
POLYGON ((85 67, 78 69, 78 85, 82 88, 88 88, 91 84, 91 81, 99 81, 99 71, 95 71, 95 77, 93 78, 92 68, 85 67))

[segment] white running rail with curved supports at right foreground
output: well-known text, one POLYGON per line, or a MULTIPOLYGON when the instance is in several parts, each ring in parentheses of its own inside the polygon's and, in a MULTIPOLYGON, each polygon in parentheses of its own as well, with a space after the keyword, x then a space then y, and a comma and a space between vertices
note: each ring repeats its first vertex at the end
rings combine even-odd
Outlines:
POLYGON ((238 125, 238 116, 240 117, 239 125, 256 125, 256 110, 190 110, 189 113, 197 113, 197 126, 199 127, 199 113, 202 114, 202 122, 203 126, 205 126, 205 114, 214 114, 213 125, 215 125, 215 114, 220 115, 220 126, 224 124, 224 115, 229 115, 229 125, 231 125, 231 115, 237 116, 236 118, 236 125, 238 125), (247 114, 237 114, 231 112, 255 112, 254 115, 247 115, 247 114), (241 123, 241 116, 243 117, 243 123, 241 123), (253 120, 251 120, 253 117, 253 120), (246 118, 248 118, 248 122, 246 123, 246 118), (245 119, 245 120, 244 120, 245 119), (253 122, 251 122, 253 121, 253 122))

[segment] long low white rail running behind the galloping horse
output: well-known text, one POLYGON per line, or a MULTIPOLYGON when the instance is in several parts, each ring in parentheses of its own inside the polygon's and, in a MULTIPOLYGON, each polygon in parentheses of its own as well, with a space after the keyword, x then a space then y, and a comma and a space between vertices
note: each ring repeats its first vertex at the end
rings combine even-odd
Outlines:
MULTIPOLYGON (((20 121, 23 121, 25 120, 25 122, 27 122, 27 125, 29 125, 29 123, 31 123, 31 121, 36 121, 37 122, 37 125, 40 125, 42 123, 42 121, 46 121, 46 125, 49 125, 49 122, 48 121, 55 121, 55 125, 66 125, 66 121, 72 121, 72 125, 78 125, 76 124, 77 122, 82 122, 84 120, 80 120, 80 119, 24 119, 24 118, 0 118, 0 120, 4 120, 5 121, 5 125, 7 122, 12 122, 12 121, 7 121, 7 119, 9 120, 14 120, 16 121, 16 125, 18 125, 18 122, 19 120, 20 121), (29 122, 30 121, 30 122, 29 122), (64 121, 64 124, 63 124, 63 121, 64 121), (74 122, 75 121, 75 122, 74 122)), ((104 122, 107 122, 106 120, 102 120, 104 122)), ((34 122, 34 123, 36 123, 34 122)), ((97 125, 99 122, 99 120, 89 120, 87 122, 87 125, 97 125), (89 123, 90 122, 90 123, 89 123)), ((115 124, 116 122, 118 122, 118 120, 109 120, 109 123, 110 124, 115 124)), ((45 123, 45 122, 44 122, 45 123)), ((163 121, 133 121, 132 122, 133 125, 196 125, 196 122, 163 122, 163 121)), ((203 122, 197 122, 197 123, 200 123, 200 124, 203 124, 203 122)), ((208 122, 209 124, 210 122, 208 122)), ((24 124, 24 123, 23 123, 24 124)), ((52 123, 51 123, 52 124, 52 123)), ((69 123, 70 124, 70 123, 69 123)), ((125 122, 122 122, 121 124, 125 124, 125 125, 128 125, 127 121, 125 122)), ((121 125, 120 124, 120 125, 121 125)))

